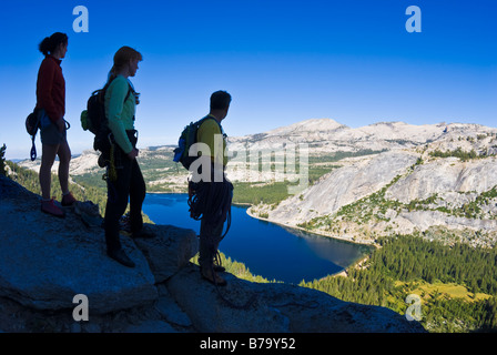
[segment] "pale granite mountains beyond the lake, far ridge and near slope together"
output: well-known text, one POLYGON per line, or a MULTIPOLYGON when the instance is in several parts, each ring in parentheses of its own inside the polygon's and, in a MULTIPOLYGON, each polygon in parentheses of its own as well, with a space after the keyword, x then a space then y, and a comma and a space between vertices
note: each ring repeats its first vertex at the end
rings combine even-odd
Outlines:
MULTIPOLYGON (((310 170, 320 171, 323 164, 333 164, 334 170, 278 205, 253 206, 250 213, 254 216, 351 241, 422 233, 475 245, 496 244, 496 128, 379 122, 352 129, 331 119, 307 120, 230 138, 233 158, 229 178, 265 184, 275 179, 288 180, 292 176, 272 170, 247 174, 245 155, 251 150, 277 150, 288 143, 308 145, 310 170)), ((187 172, 173 163, 173 149, 140 150, 149 191, 185 191, 187 172)), ((97 160, 95 152, 83 152, 72 160, 71 175, 103 174, 97 160)), ((20 164, 39 169, 39 161, 20 164)))

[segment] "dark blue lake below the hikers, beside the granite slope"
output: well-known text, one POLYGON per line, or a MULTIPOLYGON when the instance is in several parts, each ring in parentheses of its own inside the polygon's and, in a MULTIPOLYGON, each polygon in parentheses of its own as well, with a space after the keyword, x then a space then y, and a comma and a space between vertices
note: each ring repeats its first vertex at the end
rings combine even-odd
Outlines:
MULTIPOLYGON (((254 275, 297 284, 338 273, 369 251, 364 245, 260 221, 246 210, 232 207, 231 229, 220 251, 244 263, 254 275)), ((200 232, 200 222, 190 217, 186 194, 148 194, 143 212, 156 224, 200 232)))

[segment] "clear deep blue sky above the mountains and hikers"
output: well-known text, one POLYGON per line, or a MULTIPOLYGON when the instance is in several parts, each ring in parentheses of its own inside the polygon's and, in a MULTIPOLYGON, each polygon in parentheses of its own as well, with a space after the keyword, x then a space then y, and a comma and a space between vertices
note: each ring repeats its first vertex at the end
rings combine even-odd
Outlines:
MULTIPOLYGON (((0 145, 27 159, 23 124, 36 103, 38 43, 69 36, 62 62, 69 142, 91 149, 80 112, 102 87, 121 45, 142 52, 132 79, 141 92, 139 148, 173 144, 207 113, 213 91, 233 95, 229 135, 307 119, 348 126, 379 121, 497 126, 497 1, 141 0, 2 2, 0 145), (422 32, 408 33, 408 6, 422 32), (73 9, 89 10, 75 33, 73 9)), ((39 151, 41 143, 37 139, 39 151)))

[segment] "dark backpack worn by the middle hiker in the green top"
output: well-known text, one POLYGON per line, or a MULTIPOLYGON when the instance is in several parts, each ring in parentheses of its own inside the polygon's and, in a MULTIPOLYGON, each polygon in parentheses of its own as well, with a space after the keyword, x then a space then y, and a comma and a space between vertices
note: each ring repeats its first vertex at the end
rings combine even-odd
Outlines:
MULTIPOLYGON (((109 83, 110 85, 110 83, 109 83)), ((90 131, 95 135, 93 143, 94 150, 102 150, 102 135, 109 130, 105 116, 105 91, 109 85, 103 89, 95 90, 91 93, 87 102, 87 110, 81 112, 81 128, 83 131, 90 131)), ((124 98, 124 102, 131 94, 131 87, 124 98)), ((106 134, 104 134, 106 135, 106 134)))

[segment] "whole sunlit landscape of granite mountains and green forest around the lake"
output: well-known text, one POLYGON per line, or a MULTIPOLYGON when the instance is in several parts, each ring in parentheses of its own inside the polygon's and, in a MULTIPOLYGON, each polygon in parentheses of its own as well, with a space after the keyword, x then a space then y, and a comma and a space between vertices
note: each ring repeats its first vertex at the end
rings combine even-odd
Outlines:
MULTIPOLYGON (((149 192, 186 191, 187 172, 172 162, 173 149, 140 149, 149 192)), ((304 286, 400 314, 407 308, 406 296, 419 294, 422 324, 432 332, 495 329, 497 290, 488 285, 497 280, 491 271, 497 258, 487 257, 497 244, 497 129, 403 122, 352 129, 321 119, 230 138, 229 150, 270 154, 260 158, 255 174, 247 174, 252 165, 243 154, 232 153, 227 166, 234 202, 251 205, 247 213, 253 217, 377 246, 362 267, 347 270, 346 277, 328 276, 304 286), (305 166, 298 156, 295 165, 288 164, 282 159, 288 156, 285 150, 277 150, 298 144, 308 146, 305 166), (292 194, 288 187, 298 184, 302 172, 308 187, 292 194), (396 243, 408 245, 389 254, 396 243), (413 252, 416 245, 427 254, 413 252), (442 267, 429 258, 436 251, 440 261, 452 264, 442 267), (468 257, 480 264, 467 265, 468 257), (460 265, 490 268, 456 277, 460 265)), ((95 152, 85 151, 71 162, 71 179, 85 192, 105 190, 97 160, 95 152)), ((20 163, 31 171, 38 164, 20 163)))

